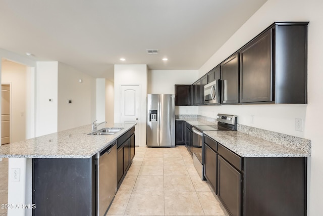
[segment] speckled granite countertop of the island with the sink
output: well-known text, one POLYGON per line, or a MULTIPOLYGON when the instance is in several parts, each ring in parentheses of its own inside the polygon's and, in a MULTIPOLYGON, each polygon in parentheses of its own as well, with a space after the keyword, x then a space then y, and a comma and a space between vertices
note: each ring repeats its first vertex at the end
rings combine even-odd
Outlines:
POLYGON ((114 135, 87 135, 92 125, 44 135, 29 140, 0 146, 0 158, 90 158, 112 144, 135 124, 101 124, 97 129, 123 129, 114 135))

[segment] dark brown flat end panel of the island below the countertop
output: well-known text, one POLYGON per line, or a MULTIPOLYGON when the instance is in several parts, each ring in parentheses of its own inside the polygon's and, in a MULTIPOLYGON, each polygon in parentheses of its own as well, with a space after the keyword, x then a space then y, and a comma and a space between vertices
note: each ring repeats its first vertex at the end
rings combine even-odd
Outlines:
POLYGON ((32 215, 96 215, 95 156, 32 160, 32 215))

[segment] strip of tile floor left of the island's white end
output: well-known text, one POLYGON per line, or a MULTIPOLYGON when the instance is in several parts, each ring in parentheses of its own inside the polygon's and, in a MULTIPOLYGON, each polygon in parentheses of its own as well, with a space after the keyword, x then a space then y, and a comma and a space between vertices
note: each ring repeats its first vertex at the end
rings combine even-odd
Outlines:
MULTIPOLYGON (((0 161, 0 205, 8 203, 8 158, 0 161)), ((7 216, 7 209, 1 208, 0 216, 7 216)))

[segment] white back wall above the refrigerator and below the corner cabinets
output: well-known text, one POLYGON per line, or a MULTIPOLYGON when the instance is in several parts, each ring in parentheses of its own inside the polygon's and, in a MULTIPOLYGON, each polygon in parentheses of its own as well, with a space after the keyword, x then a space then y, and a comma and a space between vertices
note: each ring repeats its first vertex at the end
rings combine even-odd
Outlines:
MULTIPOLYGON (((147 94, 175 94, 175 84, 192 84, 197 79, 198 70, 149 70, 147 94)), ((176 106, 175 114, 197 115, 197 106, 176 106)))

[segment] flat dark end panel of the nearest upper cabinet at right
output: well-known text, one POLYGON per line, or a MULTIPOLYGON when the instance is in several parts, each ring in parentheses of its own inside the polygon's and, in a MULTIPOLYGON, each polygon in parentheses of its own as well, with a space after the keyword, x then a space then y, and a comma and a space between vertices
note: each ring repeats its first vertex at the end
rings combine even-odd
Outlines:
POLYGON ((275 103, 307 103, 308 22, 276 22, 275 103))

